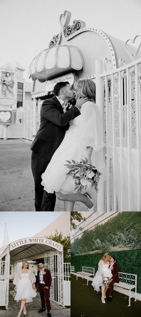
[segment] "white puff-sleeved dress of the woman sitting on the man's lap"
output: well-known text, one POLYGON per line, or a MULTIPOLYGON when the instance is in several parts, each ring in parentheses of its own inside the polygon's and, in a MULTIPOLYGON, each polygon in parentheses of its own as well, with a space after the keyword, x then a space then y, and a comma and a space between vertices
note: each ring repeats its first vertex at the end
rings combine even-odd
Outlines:
POLYGON ((99 286, 102 286, 102 276, 101 274, 103 273, 104 274, 104 277, 109 277, 111 278, 112 277, 112 274, 111 274, 111 270, 109 268, 109 264, 104 264, 104 262, 102 260, 99 261, 98 263, 98 270, 96 272, 96 275, 95 277, 93 278, 92 280, 92 286, 94 287, 94 290, 95 291, 99 291, 99 286))

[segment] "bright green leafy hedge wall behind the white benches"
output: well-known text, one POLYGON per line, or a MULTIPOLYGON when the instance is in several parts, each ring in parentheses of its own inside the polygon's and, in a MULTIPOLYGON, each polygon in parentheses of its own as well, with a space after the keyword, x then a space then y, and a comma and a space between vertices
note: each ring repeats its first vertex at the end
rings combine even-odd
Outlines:
MULTIPOLYGON (((119 272, 137 274, 137 293, 141 294, 141 249, 112 251, 110 254, 116 258, 119 272)), ((82 266, 89 266, 94 267, 96 273, 103 255, 104 253, 92 253, 71 256, 71 265, 74 265, 75 272, 82 271, 82 266)))

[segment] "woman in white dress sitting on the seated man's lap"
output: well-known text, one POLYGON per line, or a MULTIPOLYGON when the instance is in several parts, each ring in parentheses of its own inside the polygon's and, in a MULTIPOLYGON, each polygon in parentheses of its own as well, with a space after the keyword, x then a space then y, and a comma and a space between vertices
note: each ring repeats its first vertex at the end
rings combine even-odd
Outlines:
POLYGON ((103 279, 104 277, 109 277, 109 279, 112 277, 111 269, 109 268, 109 260, 111 259, 111 255, 109 253, 105 253, 102 259, 98 263, 98 270, 96 272, 95 277, 92 280, 92 286, 94 287, 95 291, 99 291, 99 287, 101 286, 101 301, 105 304, 104 298, 106 298, 106 286, 103 285, 103 279))

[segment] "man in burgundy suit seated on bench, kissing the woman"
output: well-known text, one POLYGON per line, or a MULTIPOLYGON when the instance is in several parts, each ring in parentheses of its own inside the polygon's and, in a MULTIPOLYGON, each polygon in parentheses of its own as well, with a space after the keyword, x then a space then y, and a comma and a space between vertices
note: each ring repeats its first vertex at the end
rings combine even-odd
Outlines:
MULTIPOLYGON (((119 266, 116 264, 116 259, 114 257, 111 257, 109 262, 110 262, 109 268, 111 269, 112 278, 111 278, 111 280, 109 280, 109 286, 106 286, 106 289, 109 288, 108 303, 110 303, 112 300, 114 283, 115 282, 119 283, 119 279, 118 279, 119 266)), ((101 293, 101 286, 100 286, 100 290, 96 294, 100 294, 100 293, 101 293)))

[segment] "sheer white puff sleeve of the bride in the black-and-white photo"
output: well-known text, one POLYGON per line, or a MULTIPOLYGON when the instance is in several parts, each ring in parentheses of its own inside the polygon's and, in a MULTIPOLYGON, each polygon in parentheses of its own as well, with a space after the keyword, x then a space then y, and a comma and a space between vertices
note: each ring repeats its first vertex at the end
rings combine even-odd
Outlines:
POLYGON ((87 101, 83 104, 77 139, 82 154, 85 154, 87 146, 95 152, 104 147, 99 109, 95 103, 87 101))

